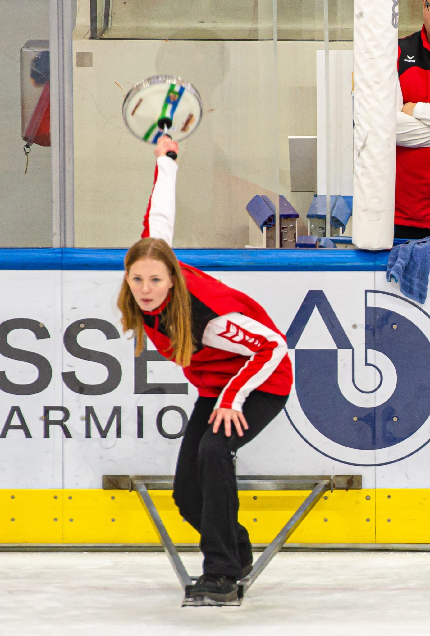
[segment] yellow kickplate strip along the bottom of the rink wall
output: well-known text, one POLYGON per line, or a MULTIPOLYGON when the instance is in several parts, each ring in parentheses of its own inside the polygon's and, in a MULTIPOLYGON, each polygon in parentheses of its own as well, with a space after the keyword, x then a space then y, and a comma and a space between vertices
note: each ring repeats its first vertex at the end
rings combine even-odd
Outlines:
MULTIPOLYGON (((149 491, 174 543, 198 544, 164 490, 149 491)), ((270 543, 304 501, 305 491, 239 492, 239 521, 253 543, 270 543)), ((430 543, 430 490, 327 492, 290 543, 430 543)), ((158 544, 135 492, 0 490, 0 543, 158 544)))

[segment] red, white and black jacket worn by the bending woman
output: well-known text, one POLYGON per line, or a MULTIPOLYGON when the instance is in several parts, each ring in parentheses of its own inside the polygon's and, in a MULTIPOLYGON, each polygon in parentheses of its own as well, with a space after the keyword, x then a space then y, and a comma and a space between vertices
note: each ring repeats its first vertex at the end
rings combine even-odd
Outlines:
MULTIPOLYGON (((143 221, 142 239, 156 237, 172 245, 177 165, 158 157, 155 181, 143 221)), ((242 410, 254 389, 289 394, 293 382, 285 336, 252 298, 190 265, 181 265, 191 296, 191 329, 197 349, 184 375, 203 397, 218 397, 215 408, 242 410)), ((170 357, 163 328, 167 301, 142 312, 146 335, 162 356, 170 357)))

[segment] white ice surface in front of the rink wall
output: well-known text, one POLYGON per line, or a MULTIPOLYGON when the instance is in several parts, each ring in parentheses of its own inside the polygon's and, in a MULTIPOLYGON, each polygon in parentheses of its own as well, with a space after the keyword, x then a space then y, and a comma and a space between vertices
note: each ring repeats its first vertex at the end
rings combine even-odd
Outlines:
POLYGON ((427 553, 280 553, 241 607, 182 608, 163 553, 0 553, 0 633, 428 636, 429 587, 427 553))

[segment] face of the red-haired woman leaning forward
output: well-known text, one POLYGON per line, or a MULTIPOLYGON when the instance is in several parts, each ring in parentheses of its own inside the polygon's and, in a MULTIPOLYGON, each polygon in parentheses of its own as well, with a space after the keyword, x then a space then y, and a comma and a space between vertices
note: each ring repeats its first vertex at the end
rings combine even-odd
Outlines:
POLYGON ((162 305, 173 287, 173 278, 162 261, 141 258, 125 272, 125 279, 137 305, 151 312, 162 305))

